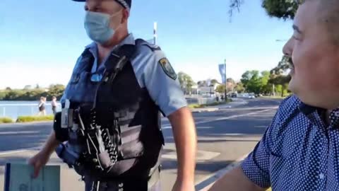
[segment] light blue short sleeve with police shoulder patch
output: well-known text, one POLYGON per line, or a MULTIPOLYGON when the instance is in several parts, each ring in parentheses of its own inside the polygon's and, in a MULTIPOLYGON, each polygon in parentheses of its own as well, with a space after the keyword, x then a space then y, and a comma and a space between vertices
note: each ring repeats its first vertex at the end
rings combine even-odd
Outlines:
POLYGON ((164 115, 171 115, 187 106, 177 74, 165 54, 161 50, 150 51, 143 59, 146 59, 143 70, 144 86, 164 115))

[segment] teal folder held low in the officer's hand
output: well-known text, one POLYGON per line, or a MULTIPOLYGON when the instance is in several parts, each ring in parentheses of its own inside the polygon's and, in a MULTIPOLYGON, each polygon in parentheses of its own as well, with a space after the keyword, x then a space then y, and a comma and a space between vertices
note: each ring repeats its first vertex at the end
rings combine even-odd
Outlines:
POLYGON ((44 166, 37 178, 25 163, 7 163, 4 191, 60 191, 60 166, 44 166))

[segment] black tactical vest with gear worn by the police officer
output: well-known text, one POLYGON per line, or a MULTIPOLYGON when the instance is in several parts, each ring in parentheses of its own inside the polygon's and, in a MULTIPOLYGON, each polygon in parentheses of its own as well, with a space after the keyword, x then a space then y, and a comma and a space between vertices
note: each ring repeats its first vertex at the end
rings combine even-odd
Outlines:
MULTIPOLYGON (((81 175, 138 177, 148 175, 150 168, 157 164, 164 144, 160 109, 147 89, 139 86, 131 65, 131 59, 141 45, 146 44, 136 40, 136 45, 123 45, 112 52, 105 62, 101 82, 90 80, 94 57, 89 50, 83 52, 73 71, 64 95, 71 103, 73 123, 76 127, 83 125, 85 129, 98 125, 102 128, 102 141, 106 144, 109 141, 117 148, 116 155, 110 156, 111 159, 116 157, 117 162, 104 173, 97 171, 97 161, 83 154, 88 154, 85 148, 88 139, 79 137, 81 133, 73 132, 69 127, 68 148, 81 155, 81 162, 72 166, 81 175)), ((64 100, 62 105, 64 107, 64 100)))

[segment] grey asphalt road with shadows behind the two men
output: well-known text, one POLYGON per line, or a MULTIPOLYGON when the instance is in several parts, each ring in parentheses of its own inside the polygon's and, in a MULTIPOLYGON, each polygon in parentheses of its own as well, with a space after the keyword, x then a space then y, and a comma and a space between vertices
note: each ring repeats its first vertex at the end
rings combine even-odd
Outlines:
MULTIPOLYGON (((194 120, 198 133, 196 158, 197 189, 208 183, 208 178, 230 163, 248 154, 261 139, 270 124, 279 100, 237 100, 221 105, 214 112, 196 112, 194 120), (207 181, 207 182, 206 182, 207 181)), ((25 161, 44 143, 52 123, 25 125, 0 125, 0 187, 4 184, 4 164, 8 161, 25 161)), ((162 155, 162 188, 171 190, 177 173, 176 151, 172 129, 166 118, 162 119, 166 145, 162 155)), ((78 175, 70 171, 59 158, 52 156, 50 164, 61 165, 61 190, 82 190, 78 175), (71 182, 72 184, 66 185, 71 182)))

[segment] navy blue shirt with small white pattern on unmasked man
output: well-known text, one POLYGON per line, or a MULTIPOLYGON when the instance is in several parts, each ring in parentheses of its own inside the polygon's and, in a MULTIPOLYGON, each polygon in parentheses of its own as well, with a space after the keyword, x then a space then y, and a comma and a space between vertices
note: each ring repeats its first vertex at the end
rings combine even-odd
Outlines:
POLYGON ((280 104, 254 151, 242 163, 256 185, 285 190, 339 190, 339 110, 330 114, 291 96, 280 104))

